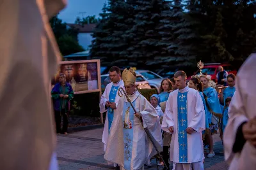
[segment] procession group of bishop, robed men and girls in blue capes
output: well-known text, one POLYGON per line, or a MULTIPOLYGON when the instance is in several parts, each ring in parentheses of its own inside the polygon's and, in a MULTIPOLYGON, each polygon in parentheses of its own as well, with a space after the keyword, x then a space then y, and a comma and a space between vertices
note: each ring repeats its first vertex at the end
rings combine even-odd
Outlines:
POLYGON ((234 74, 197 74, 186 83, 186 73, 177 71, 161 82, 161 93, 147 101, 136 89, 136 73, 118 67, 109 69, 111 83, 100 99, 100 112, 107 112, 102 142, 104 158, 116 169, 144 169, 161 152, 158 166, 170 169, 204 169, 204 150, 214 157, 212 135, 223 132, 228 121, 228 106, 236 87, 234 74), (227 83, 227 87, 223 86, 227 83), (148 129, 154 138, 148 140, 148 129), (163 158, 163 159, 161 159, 163 158))

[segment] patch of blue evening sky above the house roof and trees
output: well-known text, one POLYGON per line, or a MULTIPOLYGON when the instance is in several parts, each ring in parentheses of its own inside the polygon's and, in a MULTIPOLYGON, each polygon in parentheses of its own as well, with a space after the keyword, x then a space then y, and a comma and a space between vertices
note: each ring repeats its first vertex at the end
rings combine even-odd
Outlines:
POLYGON ((58 15, 63 22, 74 23, 76 17, 96 15, 99 17, 106 0, 67 0, 67 6, 58 15))

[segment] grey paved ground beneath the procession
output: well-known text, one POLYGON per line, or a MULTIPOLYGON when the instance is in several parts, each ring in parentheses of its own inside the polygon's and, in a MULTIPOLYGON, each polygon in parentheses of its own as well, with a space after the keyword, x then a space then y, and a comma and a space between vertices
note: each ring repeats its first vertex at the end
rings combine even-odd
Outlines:
MULTIPOLYGON (((102 131, 103 129, 93 129, 67 136, 58 135, 57 153, 60 170, 113 169, 104 160, 102 131)), ((218 134, 214 136, 214 141, 216 156, 205 159, 205 170, 227 170, 228 166, 224 162, 223 146, 218 134)), ((152 164, 153 167, 147 168, 148 170, 157 169, 156 160, 152 160, 152 164)), ((159 167, 160 169, 162 168, 159 167)))

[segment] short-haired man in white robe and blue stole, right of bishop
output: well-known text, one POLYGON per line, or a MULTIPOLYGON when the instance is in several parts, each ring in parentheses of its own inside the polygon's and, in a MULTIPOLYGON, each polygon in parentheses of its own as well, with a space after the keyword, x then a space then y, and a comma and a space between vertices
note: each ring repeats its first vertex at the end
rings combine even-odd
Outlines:
POLYGON ((174 74, 177 90, 166 103, 162 129, 172 132, 170 160, 173 170, 204 169, 202 131, 205 129, 204 103, 199 92, 186 86, 186 73, 174 74))

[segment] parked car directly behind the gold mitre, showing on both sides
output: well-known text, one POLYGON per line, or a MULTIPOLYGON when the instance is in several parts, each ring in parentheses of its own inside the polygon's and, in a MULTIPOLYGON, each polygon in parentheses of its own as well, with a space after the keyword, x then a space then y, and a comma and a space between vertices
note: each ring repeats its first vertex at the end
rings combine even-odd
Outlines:
MULTIPOLYGON (((100 76, 101 80, 101 90, 105 90, 108 83, 111 82, 109 78, 109 74, 103 74, 100 76)), ((138 85, 138 89, 151 89, 149 83, 145 78, 141 75, 136 73, 136 85, 138 85)))

